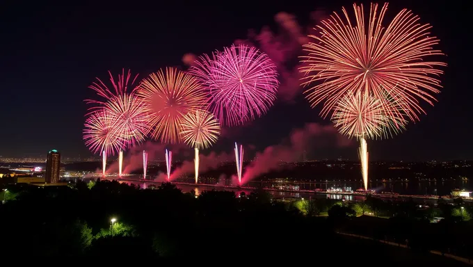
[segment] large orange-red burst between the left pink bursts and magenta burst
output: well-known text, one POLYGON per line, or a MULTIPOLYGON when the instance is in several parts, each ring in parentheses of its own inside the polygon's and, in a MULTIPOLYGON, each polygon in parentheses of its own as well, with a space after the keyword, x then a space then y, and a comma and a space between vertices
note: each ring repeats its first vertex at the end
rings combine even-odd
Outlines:
POLYGON ((198 80, 171 67, 144 79, 136 93, 150 115, 152 138, 163 143, 179 143, 184 115, 205 108, 205 92, 198 80))

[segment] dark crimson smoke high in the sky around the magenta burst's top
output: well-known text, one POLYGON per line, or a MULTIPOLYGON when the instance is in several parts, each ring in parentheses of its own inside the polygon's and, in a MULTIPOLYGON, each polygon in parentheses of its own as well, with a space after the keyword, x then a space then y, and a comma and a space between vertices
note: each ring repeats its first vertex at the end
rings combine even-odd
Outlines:
MULTIPOLYGON (((310 13, 308 26, 300 26, 296 17, 289 13, 280 12, 274 16, 278 24, 278 31, 271 31, 268 26, 262 27, 259 33, 254 30, 248 31, 245 40, 235 40, 234 44, 248 44, 258 47, 268 55, 273 63, 278 67, 280 74, 280 86, 278 89, 278 99, 284 102, 293 102, 294 98, 300 94, 299 73, 301 67, 299 56, 302 54, 302 45, 307 43, 307 35, 314 34, 314 26, 327 17, 325 10, 315 10, 310 13)), ((191 66, 197 58, 194 54, 185 54, 182 61, 187 66, 191 66)))

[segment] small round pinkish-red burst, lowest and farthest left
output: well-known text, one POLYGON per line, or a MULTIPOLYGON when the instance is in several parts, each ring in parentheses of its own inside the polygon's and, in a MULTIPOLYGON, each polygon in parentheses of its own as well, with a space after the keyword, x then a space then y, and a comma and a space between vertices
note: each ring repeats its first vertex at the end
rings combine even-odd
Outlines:
POLYGON ((109 155, 125 148, 113 124, 111 114, 104 109, 90 113, 83 130, 83 140, 90 151, 109 155))

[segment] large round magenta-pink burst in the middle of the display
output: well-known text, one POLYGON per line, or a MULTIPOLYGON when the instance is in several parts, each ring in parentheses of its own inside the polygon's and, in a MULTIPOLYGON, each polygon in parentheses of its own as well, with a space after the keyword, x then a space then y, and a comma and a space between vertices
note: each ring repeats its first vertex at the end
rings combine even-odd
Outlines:
POLYGON ((210 111, 227 126, 260 117, 276 99, 276 66, 255 47, 232 45, 201 56, 190 72, 207 87, 210 111))

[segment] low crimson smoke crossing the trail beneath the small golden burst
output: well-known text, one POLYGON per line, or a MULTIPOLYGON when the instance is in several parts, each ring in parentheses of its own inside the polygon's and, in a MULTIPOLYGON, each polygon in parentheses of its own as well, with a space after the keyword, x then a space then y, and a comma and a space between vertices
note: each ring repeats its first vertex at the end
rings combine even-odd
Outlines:
MULTIPOLYGON (((224 161, 232 161, 234 159, 234 154, 230 153, 221 153, 217 154, 215 152, 211 152, 208 155, 200 154, 200 165, 199 165, 199 172, 206 172, 207 170, 214 170, 218 168, 222 162, 224 161)), ((173 181, 182 175, 189 175, 194 172, 194 161, 193 159, 190 161, 184 161, 181 166, 171 172, 170 180, 173 181)), ((156 179, 156 181, 161 181, 165 176, 165 174, 160 173, 156 179)))

